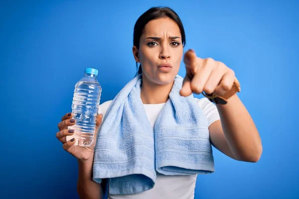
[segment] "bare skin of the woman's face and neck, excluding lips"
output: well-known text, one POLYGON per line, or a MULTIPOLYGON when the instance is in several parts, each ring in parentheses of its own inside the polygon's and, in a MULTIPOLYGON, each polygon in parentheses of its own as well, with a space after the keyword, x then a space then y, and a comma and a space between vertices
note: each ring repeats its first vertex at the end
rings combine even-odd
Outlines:
POLYGON ((149 21, 140 38, 140 49, 134 46, 133 54, 136 61, 142 63, 141 99, 144 103, 165 102, 183 56, 181 34, 177 24, 169 18, 149 21), (172 70, 167 73, 161 72, 158 66, 162 63, 170 63, 172 70))

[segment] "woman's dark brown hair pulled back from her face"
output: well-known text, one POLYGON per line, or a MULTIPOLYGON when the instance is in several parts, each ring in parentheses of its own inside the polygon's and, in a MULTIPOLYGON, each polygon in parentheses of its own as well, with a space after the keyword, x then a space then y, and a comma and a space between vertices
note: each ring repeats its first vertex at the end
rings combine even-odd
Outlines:
MULTIPOLYGON (((134 35, 133 35, 133 45, 136 46, 137 49, 139 49, 140 37, 143 33, 143 30, 144 30, 146 24, 150 20, 163 18, 163 17, 168 17, 168 18, 172 19, 178 25, 180 32, 181 32, 181 36, 182 36, 182 45, 183 46, 185 45, 185 43, 186 43, 185 30, 184 30, 182 21, 180 20, 177 13, 170 7, 151 7, 145 13, 143 13, 137 19, 137 21, 135 23, 134 35)), ((136 62, 136 68, 138 69, 137 62, 136 62)), ((140 64, 139 70, 138 70, 136 76, 141 73, 142 73, 142 68, 141 68, 141 64, 140 64)))

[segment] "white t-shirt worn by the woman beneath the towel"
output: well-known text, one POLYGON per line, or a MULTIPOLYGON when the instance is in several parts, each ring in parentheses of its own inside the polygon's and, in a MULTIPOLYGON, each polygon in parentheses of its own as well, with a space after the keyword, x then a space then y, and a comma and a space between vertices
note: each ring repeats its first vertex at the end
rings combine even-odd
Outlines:
MULTIPOLYGON (((220 119, 217 107, 206 98, 197 99, 198 108, 203 110, 209 125, 220 119)), ((102 103, 99 114, 105 117, 112 100, 102 103)), ((149 122, 154 127, 155 120, 165 103, 144 104, 149 122)), ((197 175, 165 176, 156 172, 156 183, 151 190, 134 195, 109 195, 108 199, 193 199, 197 175)))

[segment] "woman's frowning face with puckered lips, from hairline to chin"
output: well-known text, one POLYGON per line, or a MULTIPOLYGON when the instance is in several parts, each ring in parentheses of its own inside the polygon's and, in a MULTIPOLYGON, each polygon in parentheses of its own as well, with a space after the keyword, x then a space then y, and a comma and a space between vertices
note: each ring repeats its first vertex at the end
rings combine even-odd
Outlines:
POLYGON ((183 55, 178 25, 168 17, 149 21, 138 52, 144 78, 159 85, 172 83, 183 55))

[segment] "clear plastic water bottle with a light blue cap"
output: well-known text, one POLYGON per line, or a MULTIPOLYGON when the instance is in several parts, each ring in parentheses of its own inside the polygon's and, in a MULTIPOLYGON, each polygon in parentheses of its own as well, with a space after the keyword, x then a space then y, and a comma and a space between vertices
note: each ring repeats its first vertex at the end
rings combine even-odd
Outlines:
POLYGON ((88 147, 94 141, 102 92, 97 76, 98 70, 86 68, 84 77, 75 85, 72 113, 76 124, 68 127, 74 129, 74 134, 66 137, 67 141, 75 137, 75 145, 88 147))

